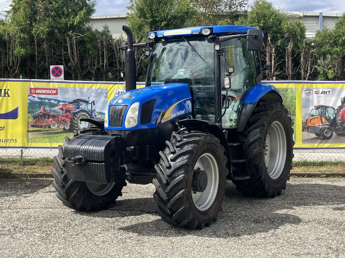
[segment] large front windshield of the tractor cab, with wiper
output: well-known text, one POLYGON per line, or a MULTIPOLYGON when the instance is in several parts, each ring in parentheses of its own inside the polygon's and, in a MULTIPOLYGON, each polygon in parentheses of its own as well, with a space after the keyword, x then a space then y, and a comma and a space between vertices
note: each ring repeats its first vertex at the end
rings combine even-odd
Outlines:
POLYGON ((189 86, 214 86, 214 37, 174 37, 156 42, 148 86, 186 79, 189 86))

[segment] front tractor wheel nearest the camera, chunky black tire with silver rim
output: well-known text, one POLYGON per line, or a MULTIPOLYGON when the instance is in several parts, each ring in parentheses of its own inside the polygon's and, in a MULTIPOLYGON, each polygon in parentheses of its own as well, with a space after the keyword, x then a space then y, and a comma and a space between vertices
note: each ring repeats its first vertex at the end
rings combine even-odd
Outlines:
POLYGON ((210 133, 181 129, 159 154, 152 183, 162 220, 186 229, 202 229, 216 221, 228 174, 219 139, 210 133))

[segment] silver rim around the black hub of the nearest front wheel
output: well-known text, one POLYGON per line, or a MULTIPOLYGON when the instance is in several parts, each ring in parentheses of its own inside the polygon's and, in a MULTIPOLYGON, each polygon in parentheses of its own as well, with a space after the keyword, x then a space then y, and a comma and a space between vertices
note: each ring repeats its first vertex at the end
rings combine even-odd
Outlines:
POLYGON ((216 159, 211 153, 200 156, 194 170, 204 170, 207 174, 207 186, 204 192, 192 191, 193 202, 200 211, 206 211, 214 202, 219 182, 219 172, 216 159))

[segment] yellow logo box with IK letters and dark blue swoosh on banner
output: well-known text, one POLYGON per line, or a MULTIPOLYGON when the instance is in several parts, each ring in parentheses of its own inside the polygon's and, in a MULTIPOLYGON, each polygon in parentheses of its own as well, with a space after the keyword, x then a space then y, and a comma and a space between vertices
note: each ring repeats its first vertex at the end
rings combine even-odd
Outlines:
POLYGON ((16 87, 0 89, 0 119, 17 119, 19 115, 19 90, 16 87))

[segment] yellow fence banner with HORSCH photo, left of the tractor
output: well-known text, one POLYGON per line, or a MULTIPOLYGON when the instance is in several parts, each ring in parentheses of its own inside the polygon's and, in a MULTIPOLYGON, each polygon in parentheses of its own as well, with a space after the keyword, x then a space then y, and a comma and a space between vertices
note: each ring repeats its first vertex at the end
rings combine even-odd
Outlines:
POLYGON ((79 118, 102 119, 110 99, 123 92, 121 82, 2 79, 0 148, 56 148, 85 127, 79 118))

